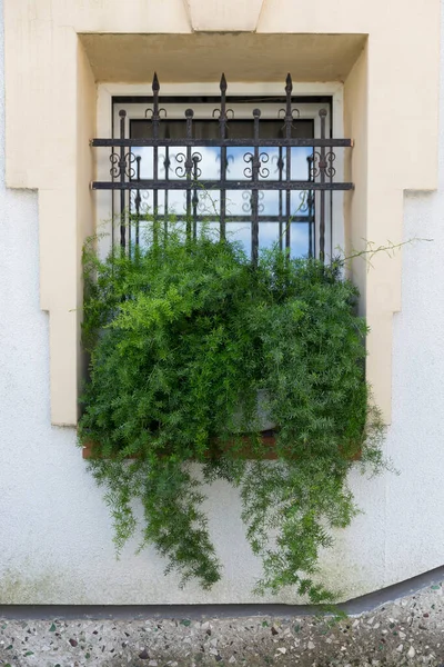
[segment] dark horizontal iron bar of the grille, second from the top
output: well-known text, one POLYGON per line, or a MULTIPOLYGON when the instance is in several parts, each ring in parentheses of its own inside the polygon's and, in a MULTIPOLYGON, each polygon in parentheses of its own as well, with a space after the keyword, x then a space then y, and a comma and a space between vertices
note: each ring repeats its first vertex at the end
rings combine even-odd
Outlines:
POLYGON ((268 181, 251 180, 221 181, 202 180, 198 183, 189 180, 140 180, 140 181, 93 181, 92 190, 353 190, 353 183, 332 183, 313 181, 268 181))

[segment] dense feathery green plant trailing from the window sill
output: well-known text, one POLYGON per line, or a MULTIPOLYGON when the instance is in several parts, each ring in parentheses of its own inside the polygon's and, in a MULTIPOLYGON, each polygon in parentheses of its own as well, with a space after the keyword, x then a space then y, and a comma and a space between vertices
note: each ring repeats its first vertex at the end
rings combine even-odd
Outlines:
POLYGON ((218 581, 198 462, 204 481, 240 489, 263 560, 258 590, 332 599, 320 550, 356 512, 353 459, 382 466, 383 434, 364 377, 366 325, 342 269, 279 249, 253 268, 236 243, 205 231, 190 240, 179 226, 131 257, 100 261, 87 248, 91 375, 79 438, 94 444, 119 548, 137 528, 138 498, 143 541, 168 569, 205 588, 218 581), (275 461, 263 460, 258 396, 278 425, 275 461))

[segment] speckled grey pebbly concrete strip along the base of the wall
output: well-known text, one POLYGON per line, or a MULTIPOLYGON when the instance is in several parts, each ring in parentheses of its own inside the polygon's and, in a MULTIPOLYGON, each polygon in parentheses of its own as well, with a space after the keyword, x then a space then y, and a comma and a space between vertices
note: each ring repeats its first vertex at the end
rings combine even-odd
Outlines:
MULTIPOLYGON (((291 609, 291 608, 290 608, 291 609)), ((343 618, 1 619, 2 667, 444 667, 442 584, 343 618)))

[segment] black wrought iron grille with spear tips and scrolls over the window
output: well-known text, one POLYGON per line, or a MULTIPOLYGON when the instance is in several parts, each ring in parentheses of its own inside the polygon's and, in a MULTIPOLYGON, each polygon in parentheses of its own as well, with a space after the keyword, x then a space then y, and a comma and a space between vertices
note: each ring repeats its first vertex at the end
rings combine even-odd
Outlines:
MULTIPOLYGON (((110 139, 92 139, 91 146, 104 147, 111 149, 110 161, 110 181, 94 181, 92 188, 94 190, 112 190, 119 192, 120 200, 120 245, 122 249, 131 246, 131 227, 134 226, 134 241, 139 243, 139 225, 143 219, 143 212, 141 211, 141 192, 143 190, 150 190, 153 192, 153 216, 161 218, 168 216, 168 203, 164 213, 158 213, 159 192, 164 191, 168 202, 168 192, 171 190, 185 190, 186 203, 185 203, 185 222, 186 232, 191 235, 196 233, 198 222, 201 219, 199 213, 199 191, 202 189, 209 191, 216 191, 220 195, 220 235, 221 238, 225 238, 226 235, 226 222, 230 221, 250 221, 251 223, 251 257, 253 263, 258 261, 259 256, 259 226, 265 218, 270 220, 270 216, 261 216, 260 211, 260 196, 261 192, 266 190, 274 190, 279 193, 279 213, 273 216, 275 221, 279 223, 279 239, 280 246, 290 249, 291 243, 291 222, 292 221, 309 221, 314 223, 314 201, 315 192, 319 192, 319 257, 322 261, 325 259, 325 209, 326 209, 326 196, 339 190, 351 190, 353 183, 351 182, 336 182, 335 176, 335 152, 334 148, 350 148, 353 146, 351 139, 332 139, 326 136, 325 118, 326 109, 321 109, 320 126, 321 136, 312 139, 293 138, 292 128, 295 120, 295 113, 297 111, 293 108, 292 99, 292 80, 289 74, 285 83, 285 109, 283 109, 283 137, 276 139, 263 139, 261 138, 261 110, 253 110, 253 127, 254 135, 251 138, 240 139, 228 137, 228 126, 230 122, 230 110, 228 109, 226 100, 226 80, 222 74, 220 82, 220 107, 214 111, 215 120, 219 123, 219 138, 218 139, 196 139, 193 136, 193 109, 185 110, 184 119, 184 132, 181 139, 168 139, 160 138, 160 127, 162 122, 162 109, 160 107, 160 84, 158 77, 154 74, 152 83, 152 108, 149 110, 151 113, 151 137, 131 139, 125 136, 125 119, 127 112, 120 110, 120 137, 110 139), (153 178, 142 179, 140 170, 140 156, 135 157, 132 152, 134 148, 152 148, 153 152, 153 178), (165 165, 165 178, 159 178, 159 148, 165 148, 165 155, 168 163, 165 165), (199 168, 201 161, 201 155, 198 150, 200 147, 218 148, 220 150, 221 169, 219 179, 202 179, 199 168), (309 147, 313 151, 309 156, 307 161, 307 179, 306 180, 292 180, 292 148, 309 147), (180 155, 181 165, 175 170, 175 176, 179 178, 170 179, 169 176, 169 157, 168 151, 170 148, 182 148, 183 152, 180 155), (244 153, 244 161, 246 167, 244 169, 245 178, 242 180, 228 180, 226 168, 228 168, 228 149, 229 148, 245 148, 248 152, 244 153), (276 163, 278 179, 264 180, 270 172, 265 166, 269 156, 263 150, 266 148, 278 149, 279 159, 276 163), (231 216, 226 210, 226 191, 228 190, 243 190, 250 191, 250 215, 249 216, 231 216), (307 193, 305 201, 305 210, 303 216, 293 218, 291 215, 291 193, 293 191, 305 191, 307 193), (130 225, 127 223, 125 211, 127 211, 127 197, 128 193, 134 195, 134 213, 130 216, 130 225), (300 220, 299 220, 300 218, 300 220)), ((127 98, 125 98, 127 99, 127 98)), ((141 101, 141 98, 135 98, 137 101, 141 101)), ((171 99, 171 98, 170 98, 171 99)), ((208 98, 204 98, 205 101, 208 98)), ((132 98, 128 98, 128 101, 134 101, 132 98)), ((316 100, 319 101, 319 100, 316 100)), ((178 156, 176 156, 178 159, 178 156)), ((311 227, 310 227, 311 229, 311 227)))

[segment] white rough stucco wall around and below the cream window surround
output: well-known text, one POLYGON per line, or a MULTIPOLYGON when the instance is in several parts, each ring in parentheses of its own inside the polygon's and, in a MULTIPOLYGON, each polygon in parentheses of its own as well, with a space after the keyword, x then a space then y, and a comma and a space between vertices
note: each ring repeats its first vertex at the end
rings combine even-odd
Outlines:
MULTIPOLYGON (((444 82, 444 49, 442 72, 444 82)), ((239 504, 222 484, 209 489, 208 507, 225 577, 211 593, 193 584, 180 590, 152 550, 134 554, 135 542, 115 560, 108 508, 75 448, 75 432, 50 426, 37 193, 4 188, 2 53, 0 90, 0 604, 260 601, 251 594, 260 568, 243 538, 239 504)), ((405 199, 404 238, 433 241, 404 250, 386 441, 401 474, 353 476, 364 514, 339 534, 324 560, 326 581, 341 586, 344 597, 444 564, 443 123, 440 169, 438 192, 405 199)), ((287 594, 278 601, 294 599, 287 594)))

